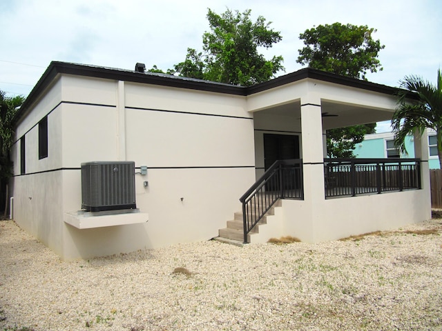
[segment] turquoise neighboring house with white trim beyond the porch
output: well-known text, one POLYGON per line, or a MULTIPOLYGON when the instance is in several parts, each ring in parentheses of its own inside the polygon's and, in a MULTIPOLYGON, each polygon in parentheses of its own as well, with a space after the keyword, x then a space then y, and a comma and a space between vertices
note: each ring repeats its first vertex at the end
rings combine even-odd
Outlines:
MULTIPOLYGON (((431 129, 426 130, 428 139, 428 164, 430 169, 439 169, 439 157, 437 154, 436 132, 431 129)), ((414 137, 407 136, 405 139, 405 148, 408 154, 401 154, 394 146, 394 134, 392 132, 382 132, 365 134, 364 141, 358 143, 354 149, 357 158, 414 158, 414 137)))

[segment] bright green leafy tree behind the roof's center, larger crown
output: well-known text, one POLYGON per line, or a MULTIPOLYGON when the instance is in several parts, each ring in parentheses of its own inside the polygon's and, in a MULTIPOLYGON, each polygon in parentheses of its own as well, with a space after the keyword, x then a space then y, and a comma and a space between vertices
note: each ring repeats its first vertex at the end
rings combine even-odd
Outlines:
POLYGON ((174 66, 180 76, 240 86, 251 86, 275 77, 284 70, 282 57, 271 60, 258 52, 258 48, 271 48, 282 37, 269 28, 262 16, 255 23, 251 10, 240 13, 227 9, 221 15, 209 9, 207 19, 211 32, 202 36, 203 51, 188 48, 186 59, 174 66))

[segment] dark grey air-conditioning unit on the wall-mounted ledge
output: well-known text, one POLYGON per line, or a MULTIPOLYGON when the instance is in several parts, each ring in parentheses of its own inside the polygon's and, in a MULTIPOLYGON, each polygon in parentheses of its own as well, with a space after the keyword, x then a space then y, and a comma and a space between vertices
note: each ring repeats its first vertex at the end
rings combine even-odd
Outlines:
POLYGON ((81 163, 81 209, 99 212, 135 208, 135 162, 81 163))

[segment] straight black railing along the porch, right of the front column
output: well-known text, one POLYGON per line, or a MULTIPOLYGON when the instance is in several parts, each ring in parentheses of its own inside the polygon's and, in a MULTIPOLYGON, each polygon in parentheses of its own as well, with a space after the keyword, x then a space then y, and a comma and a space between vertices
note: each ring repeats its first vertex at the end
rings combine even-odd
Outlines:
POLYGON ((421 188, 420 159, 324 159, 325 197, 421 188))

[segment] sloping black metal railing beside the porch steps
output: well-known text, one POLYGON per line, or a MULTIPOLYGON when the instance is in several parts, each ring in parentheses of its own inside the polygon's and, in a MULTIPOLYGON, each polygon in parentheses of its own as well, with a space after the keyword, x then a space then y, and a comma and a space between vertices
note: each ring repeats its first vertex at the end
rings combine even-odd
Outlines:
POLYGON ((301 159, 276 161, 240 198, 244 243, 248 242, 247 234, 278 199, 304 199, 301 159))

